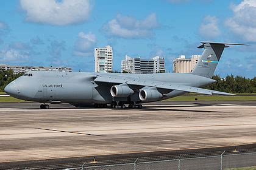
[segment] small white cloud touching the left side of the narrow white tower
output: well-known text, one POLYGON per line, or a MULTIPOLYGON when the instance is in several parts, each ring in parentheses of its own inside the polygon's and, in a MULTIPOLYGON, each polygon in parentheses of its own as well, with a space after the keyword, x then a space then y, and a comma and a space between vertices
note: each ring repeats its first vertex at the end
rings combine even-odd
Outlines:
POLYGON ((74 55, 77 55, 77 56, 93 55, 93 52, 94 52, 93 47, 95 46, 96 42, 97 42, 97 38, 93 33, 79 32, 78 39, 74 44, 74 55))

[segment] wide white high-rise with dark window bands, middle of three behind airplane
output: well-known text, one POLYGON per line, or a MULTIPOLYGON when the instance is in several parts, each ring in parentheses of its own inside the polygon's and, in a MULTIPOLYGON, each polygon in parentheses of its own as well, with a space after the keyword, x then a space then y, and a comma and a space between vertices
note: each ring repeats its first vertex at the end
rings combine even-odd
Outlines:
POLYGON ((155 56, 152 59, 144 60, 140 57, 131 58, 125 56, 121 62, 122 72, 127 73, 159 73, 165 72, 165 59, 155 56))

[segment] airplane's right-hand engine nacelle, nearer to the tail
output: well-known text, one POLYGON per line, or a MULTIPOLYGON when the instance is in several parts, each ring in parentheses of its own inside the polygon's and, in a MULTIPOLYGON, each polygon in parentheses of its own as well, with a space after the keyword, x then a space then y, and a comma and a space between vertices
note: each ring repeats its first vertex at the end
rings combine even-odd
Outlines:
POLYGON ((157 88, 152 89, 141 89, 139 93, 139 97, 141 101, 155 101, 163 97, 160 92, 158 92, 157 88))

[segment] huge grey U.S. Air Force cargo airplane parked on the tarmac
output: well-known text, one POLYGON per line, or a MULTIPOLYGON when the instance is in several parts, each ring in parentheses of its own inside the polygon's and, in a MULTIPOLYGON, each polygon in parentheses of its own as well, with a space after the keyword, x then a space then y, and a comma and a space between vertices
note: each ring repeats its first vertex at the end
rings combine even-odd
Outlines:
POLYGON ((49 109, 46 103, 84 103, 94 107, 118 109, 141 108, 142 103, 166 100, 188 92, 199 94, 233 95, 216 90, 202 89, 216 81, 212 79, 222 52, 228 45, 223 42, 201 42, 204 52, 191 73, 86 73, 29 71, 5 87, 12 97, 42 103, 41 109, 49 109))

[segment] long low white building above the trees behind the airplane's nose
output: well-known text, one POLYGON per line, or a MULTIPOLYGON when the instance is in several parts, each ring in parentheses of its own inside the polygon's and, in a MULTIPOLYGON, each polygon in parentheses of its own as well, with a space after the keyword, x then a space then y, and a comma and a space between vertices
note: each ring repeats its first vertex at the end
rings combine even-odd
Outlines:
POLYGON ((3 70, 13 70, 13 73, 26 73, 30 70, 39 70, 39 71, 59 71, 59 72, 72 72, 70 67, 43 67, 43 66, 9 66, 6 64, 0 64, 0 69, 3 70))

